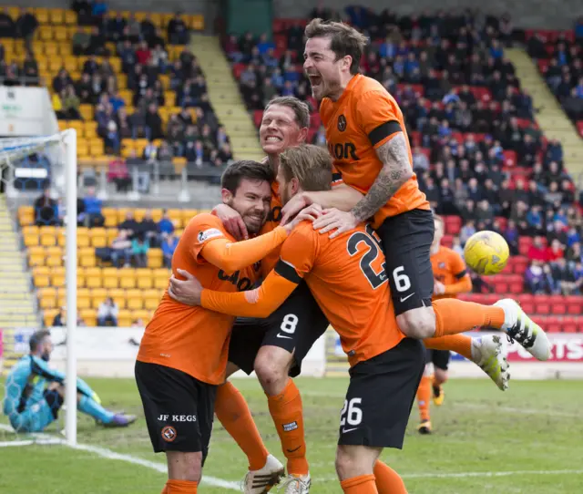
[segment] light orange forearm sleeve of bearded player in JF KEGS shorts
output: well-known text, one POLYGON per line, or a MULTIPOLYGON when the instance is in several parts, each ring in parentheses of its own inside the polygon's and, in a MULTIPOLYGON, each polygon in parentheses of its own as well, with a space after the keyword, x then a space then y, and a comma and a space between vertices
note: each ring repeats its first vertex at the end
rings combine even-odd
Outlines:
POLYGON ((273 249, 279 247, 286 238, 287 231, 281 226, 269 233, 242 242, 231 242, 224 236, 217 236, 215 242, 207 242, 200 253, 206 261, 231 273, 261 261, 273 249))

